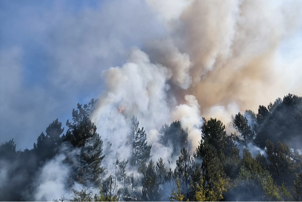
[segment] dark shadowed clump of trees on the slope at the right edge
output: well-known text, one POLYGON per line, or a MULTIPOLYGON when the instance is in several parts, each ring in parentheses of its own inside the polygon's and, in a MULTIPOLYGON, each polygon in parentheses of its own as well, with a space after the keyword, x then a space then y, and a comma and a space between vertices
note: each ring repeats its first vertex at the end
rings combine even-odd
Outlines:
POLYGON ((301 141, 302 131, 302 97, 288 94, 283 99, 278 98, 272 104, 259 106, 257 116, 257 134, 255 144, 264 148, 265 141, 274 144, 292 138, 301 141))

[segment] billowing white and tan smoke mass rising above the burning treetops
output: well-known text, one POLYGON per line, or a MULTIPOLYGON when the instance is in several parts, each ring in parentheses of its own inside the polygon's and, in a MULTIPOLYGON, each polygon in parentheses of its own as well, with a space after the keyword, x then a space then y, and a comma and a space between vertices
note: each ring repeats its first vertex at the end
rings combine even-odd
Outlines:
MULTIPOLYGON (((109 112, 111 120, 124 120, 118 113, 118 107, 124 107, 146 129, 155 157, 169 150, 156 146, 164 123, 182 120, 195 149, 201 139, 197 127, 201 117, 216 117, 226 124, 238 111, 256 111, 259 104, 289 91, 301 92, 301 59, 285 66, 278 56, 282 42, 301 31, 302 2, 147 3, 169 34, 146 41, 142 50, 131 49, 123 66, 103 71, 107 91, 92 116, 98 127, 104 125, 100 117, 109 112)), ((118 122, 110 124, 120 128, 118 122)), ((126 138, 127 130, 113 133, 108 137, 111 143, 126 138)))

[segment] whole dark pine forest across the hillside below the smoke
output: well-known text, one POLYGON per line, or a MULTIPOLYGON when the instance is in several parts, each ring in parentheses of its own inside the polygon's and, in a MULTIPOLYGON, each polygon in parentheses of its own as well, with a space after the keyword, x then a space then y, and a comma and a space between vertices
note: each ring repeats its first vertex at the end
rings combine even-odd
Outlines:
POLYGON ((56 201, 302 201, 302 155, 295 150, 302 148, 302 97, 288 94, 268 107, 260 105, 257 114, 247 110, 232 116, 230 134, 220 120, 203 119, 195 151, 190 151, 189 131, 180 121, 163 125, 159 142, 173 150, 169 165, 162 158, 152 159, 148 134, 133 116, 125 140, 130 158, 122 160, 116 153, 109 177, 102 166, 102 139, 90 121, 96 102, 92 99, 83 108, 78 104, 66 134, 62 123, 53 121, 32 150, 16 151, 13 140, 0 146, 1 169, 11 165, 5 169, 9 180, 1 186, 1 201, 25 200, 39 168, 63 145, 77 151, 65 160, 72 168, 70 188, 74 182, 83 188, 56 201), (251 144, 263 152, 253 157, 251 144))

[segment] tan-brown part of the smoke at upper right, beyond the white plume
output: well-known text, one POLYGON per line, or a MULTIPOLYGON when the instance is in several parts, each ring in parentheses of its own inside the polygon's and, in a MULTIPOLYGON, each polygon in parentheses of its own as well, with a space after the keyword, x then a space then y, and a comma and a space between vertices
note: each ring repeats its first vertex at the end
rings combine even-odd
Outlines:
MULTIPOLYGON (((213 105, 226 107, 236 102, 241 111, 255 111, 259 103, 302 89, 297 80, 301 59, 284 66, 278 54, 282 42, 301 30, 301 2, 194 1, 175 18, 164 13, 173 8, 172 2, 148 3, 167 20, 171 32, 168 40, 154 45, 151 58, 169 67, 173 57, 166 57, 172 54, 171 49, 162 52, 166 43, 173 43, 180 54, 188 54, 192 66, 174 65, 177 70, 172 72, 188 70, 183 77, 189 74, 192 85, 175 94, 179 101, 184 101, 184 94, 196 96, 205 117, 210 117, 213 105), (285 71, 291 77, 284 77, 285 71), (295 86, 288 84, 291 79, 295 86)), ((177 58, 179 54, 174 55, 177 58)))

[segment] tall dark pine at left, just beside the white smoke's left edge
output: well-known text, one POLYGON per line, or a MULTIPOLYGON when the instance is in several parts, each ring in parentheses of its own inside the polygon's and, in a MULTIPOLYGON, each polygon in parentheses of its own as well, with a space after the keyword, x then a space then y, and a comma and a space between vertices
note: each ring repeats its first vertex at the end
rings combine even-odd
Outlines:
POLYGON ((96 132, 95 124, 89 119, 95 104, 96 102, 92 99, 89 105, 84 105, 84 108, 78 104, 78 110, 73 109, 72 120, 74 122, 70 123, 67 120, 66 125, 69 129, 62 139, 80 149, 77 162, 72 162, 73 178, 84 185, 98 187, 101 183, 100 175, 104 171, 101 162, 105 156, 102 155, 103 141, 96 132))

